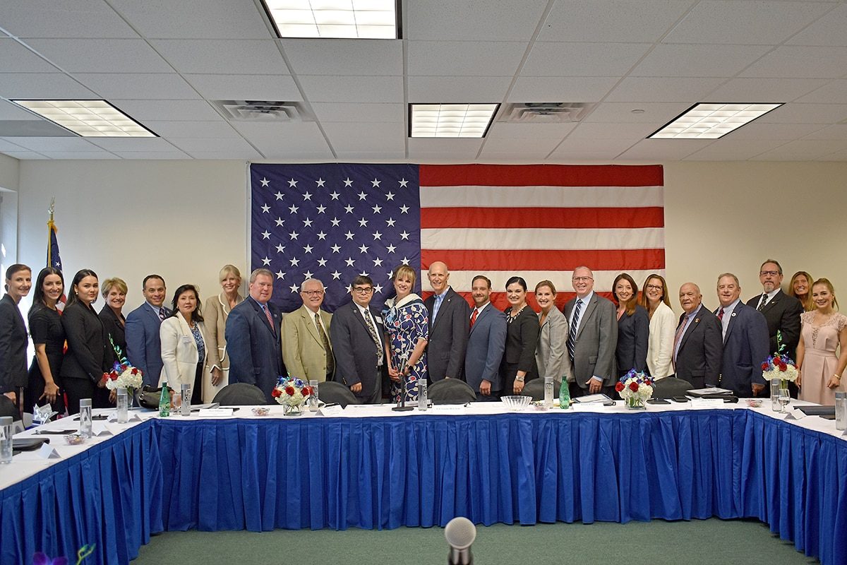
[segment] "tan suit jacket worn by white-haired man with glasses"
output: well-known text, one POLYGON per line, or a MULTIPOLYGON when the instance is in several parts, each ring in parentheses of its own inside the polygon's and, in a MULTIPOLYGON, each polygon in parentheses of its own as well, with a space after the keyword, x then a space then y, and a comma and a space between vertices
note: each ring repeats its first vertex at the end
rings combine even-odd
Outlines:
MULTIPOLYGON (((328 340, 332 314, 319 310, 328 340)), ((326 353, 315 327, 314 314, 306 306, 282 317, 282 360, 292 377, 307 380, 326 380, 326 353)), ((332 348, 332 342, 329 342, 332 348)))

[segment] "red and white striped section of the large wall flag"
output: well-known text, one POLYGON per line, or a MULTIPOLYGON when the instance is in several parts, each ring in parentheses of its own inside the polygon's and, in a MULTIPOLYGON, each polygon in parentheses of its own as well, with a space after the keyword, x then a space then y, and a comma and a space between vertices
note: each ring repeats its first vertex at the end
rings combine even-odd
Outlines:
POLYGON ((623 272, 640 287, 665 269, 662 176, 659 165, 421 165, 424 294, 435 261, 468 300, 473 276, 490 278, 501 308, 512 275, 530 294, 551 280, 560 307, 581 265, 603 296, 623 272))

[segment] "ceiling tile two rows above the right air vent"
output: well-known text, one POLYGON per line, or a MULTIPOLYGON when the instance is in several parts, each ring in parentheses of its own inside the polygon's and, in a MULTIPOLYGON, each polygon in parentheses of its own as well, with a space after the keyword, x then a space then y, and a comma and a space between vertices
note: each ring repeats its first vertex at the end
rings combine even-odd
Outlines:
POLYGON ((521 75, 619 77, 649 49, 649 43, 535 42, 521 75))

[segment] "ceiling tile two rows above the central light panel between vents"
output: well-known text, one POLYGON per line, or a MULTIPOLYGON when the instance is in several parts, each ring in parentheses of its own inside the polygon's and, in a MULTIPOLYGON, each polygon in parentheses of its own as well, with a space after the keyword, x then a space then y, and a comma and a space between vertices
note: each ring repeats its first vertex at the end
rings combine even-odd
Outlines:
POLYGON ((511 76, 527 42, 408 42, 410 76, 511 76))

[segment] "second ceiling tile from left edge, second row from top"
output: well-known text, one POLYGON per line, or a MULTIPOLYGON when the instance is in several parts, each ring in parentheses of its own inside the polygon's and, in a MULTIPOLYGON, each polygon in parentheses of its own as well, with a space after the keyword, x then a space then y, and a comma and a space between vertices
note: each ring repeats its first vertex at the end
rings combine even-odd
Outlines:
POLYGON ((169 73, 174 69, 141 39, 31 39, 38 53, 69 73, 169 73))

